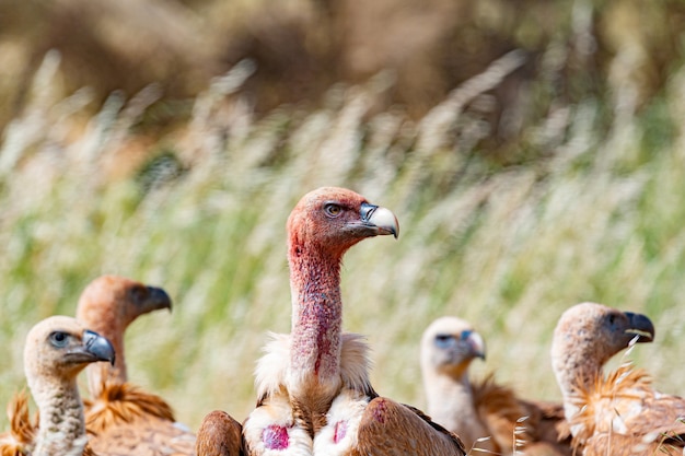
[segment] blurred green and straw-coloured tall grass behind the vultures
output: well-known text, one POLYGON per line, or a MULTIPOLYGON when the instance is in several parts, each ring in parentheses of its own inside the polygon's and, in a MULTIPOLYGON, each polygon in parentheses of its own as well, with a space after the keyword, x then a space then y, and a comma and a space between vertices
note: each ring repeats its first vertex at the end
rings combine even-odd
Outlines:
POLYGON ((383 74, 332 87, 318 110, 285 106, 256 120, 234 94, 243 63, 198 96, 184 131, 152 145, 152 164, 123 174, 124 157, 144 149, 135 126, 154 87, 113 94, 89 118, 88 92, 51 95, 59 62, 48 55, 0 149, 0 402, 25 384, 28 328, 73 315, 90 280, 117 273, 174 300, 171 315, 129 328, 131 379, 193 428, 216 408, 245 418, 266 332, 290 326, 286 219, 322 185, 353 188, 399 219, 397 241, 364 241, 342 270, 344 326, 368 336, 381 394, 423 406, 420 335, 455 314, 487 340, 476 375, 495 370, 523 396, 558 398, 552 331, 585 300, 647 313, 657 341, 634 356, 659 387, 685 394, 673 369, 685 318, 682 75, 639 112, 629 86, 608 104, 557 105, 516 145, 548 159, 495 169, 477 150, 486 124, 465 106, 518 58, 420 122, 400 108, 372 114, 391 83, 383 74))

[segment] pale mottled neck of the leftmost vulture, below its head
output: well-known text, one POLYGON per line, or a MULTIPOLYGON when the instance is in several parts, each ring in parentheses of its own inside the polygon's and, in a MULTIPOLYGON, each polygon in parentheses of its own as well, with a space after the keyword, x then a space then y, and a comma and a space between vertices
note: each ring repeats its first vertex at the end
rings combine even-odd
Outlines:
POLYGON ((85 424, 76 379, 60 385, 30 385, 30 388, 40 414, 32 456, 81 454, 86 441, 85 424))

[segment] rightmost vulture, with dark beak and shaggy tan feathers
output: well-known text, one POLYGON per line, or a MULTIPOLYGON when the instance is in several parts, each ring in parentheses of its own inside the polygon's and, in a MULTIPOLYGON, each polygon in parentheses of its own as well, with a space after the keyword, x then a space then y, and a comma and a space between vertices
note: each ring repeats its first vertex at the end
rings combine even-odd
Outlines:
POLYGON ((561 315, 552 362, 573 444, 582 448, 577 454, 683 454, 685 399, 654 390, 647 373, 629 363, 602 372, 614 354, 653 339, 654 327, 645 315, 595 303, 561 315))

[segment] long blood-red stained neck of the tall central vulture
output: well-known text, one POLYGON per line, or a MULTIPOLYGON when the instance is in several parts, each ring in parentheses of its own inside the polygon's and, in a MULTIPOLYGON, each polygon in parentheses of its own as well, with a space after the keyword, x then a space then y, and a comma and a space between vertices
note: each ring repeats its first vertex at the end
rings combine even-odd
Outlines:
POLYGON ((305 247, 292 247, 289 255, 292 346, 287 387, 298 399, 312 396, 326 402, 340 388, 340 261, 305 247))

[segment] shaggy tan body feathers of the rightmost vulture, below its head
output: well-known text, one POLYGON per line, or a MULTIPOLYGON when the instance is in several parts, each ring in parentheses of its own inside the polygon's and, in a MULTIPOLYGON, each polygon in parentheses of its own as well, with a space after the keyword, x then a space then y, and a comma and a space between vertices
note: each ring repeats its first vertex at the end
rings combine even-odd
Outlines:
POLYGON ((577 400, 570 424, 584 455, 683 454, 685 399, 655 391, 646 371, 624 364, 578 390, 577 400))

